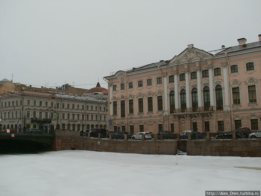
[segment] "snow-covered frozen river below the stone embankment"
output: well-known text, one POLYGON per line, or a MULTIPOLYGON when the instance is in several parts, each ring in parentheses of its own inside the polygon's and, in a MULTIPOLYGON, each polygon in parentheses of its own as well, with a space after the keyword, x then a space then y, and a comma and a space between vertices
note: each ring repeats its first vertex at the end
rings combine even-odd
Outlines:
POLYGON ((205 195, 205 190, 260 190, 258 168, 260 157, 81 150, 1 154, 0 195, 205 195))

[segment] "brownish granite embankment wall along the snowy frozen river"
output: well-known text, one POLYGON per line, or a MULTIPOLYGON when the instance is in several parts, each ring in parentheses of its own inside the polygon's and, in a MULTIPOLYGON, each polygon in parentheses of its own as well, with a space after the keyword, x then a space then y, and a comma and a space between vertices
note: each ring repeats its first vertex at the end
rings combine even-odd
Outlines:
POLYGON ((52 150, 175 155, 177 149, 187 152, 187 155, 261 157, 261 140, 109 140, 80 137, 80 132, 55 130, 52 150))

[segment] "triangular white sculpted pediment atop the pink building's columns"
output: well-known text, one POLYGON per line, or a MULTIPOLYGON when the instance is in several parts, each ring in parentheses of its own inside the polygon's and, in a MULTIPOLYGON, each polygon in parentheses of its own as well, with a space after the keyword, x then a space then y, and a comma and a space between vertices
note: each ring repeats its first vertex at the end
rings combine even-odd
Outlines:
POLYGON ((202 58, 202 57, 207 57, 207 56, 213 56, 213 55, 204 51, 204 50, 194 48, 193 44, 189 44, 188 48, 186 48, 179 55, 173 57, 173 59, 171 59, 171 61, 168 64, 177 63, 177 62, 181 62, 181 61, 184 61, 184 60, 190 61, 190 60, 195 59, 195 58, 202 58))

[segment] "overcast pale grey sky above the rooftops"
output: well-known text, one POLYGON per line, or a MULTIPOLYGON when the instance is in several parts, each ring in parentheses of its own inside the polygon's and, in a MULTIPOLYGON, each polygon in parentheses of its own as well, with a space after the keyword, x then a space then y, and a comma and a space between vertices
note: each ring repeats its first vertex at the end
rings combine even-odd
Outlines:
POLYGON ((188 44, 211 51, 242 37, 256 42, 260 9, 260 0, 0 0, 0 80, 13 74, 36 87, 90 89, 110 72, 169 60, 188 44))

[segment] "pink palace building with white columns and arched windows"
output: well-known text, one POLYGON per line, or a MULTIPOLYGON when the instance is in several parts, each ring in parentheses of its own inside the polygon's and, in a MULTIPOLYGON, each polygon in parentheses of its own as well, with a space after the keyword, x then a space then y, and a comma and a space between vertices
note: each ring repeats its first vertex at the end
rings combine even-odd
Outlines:
POLYGON ((108 80, 109 129, 218 132, 261 128, 259 41, 206 52, 189 44, 171 60, 117 71, 108 80))

